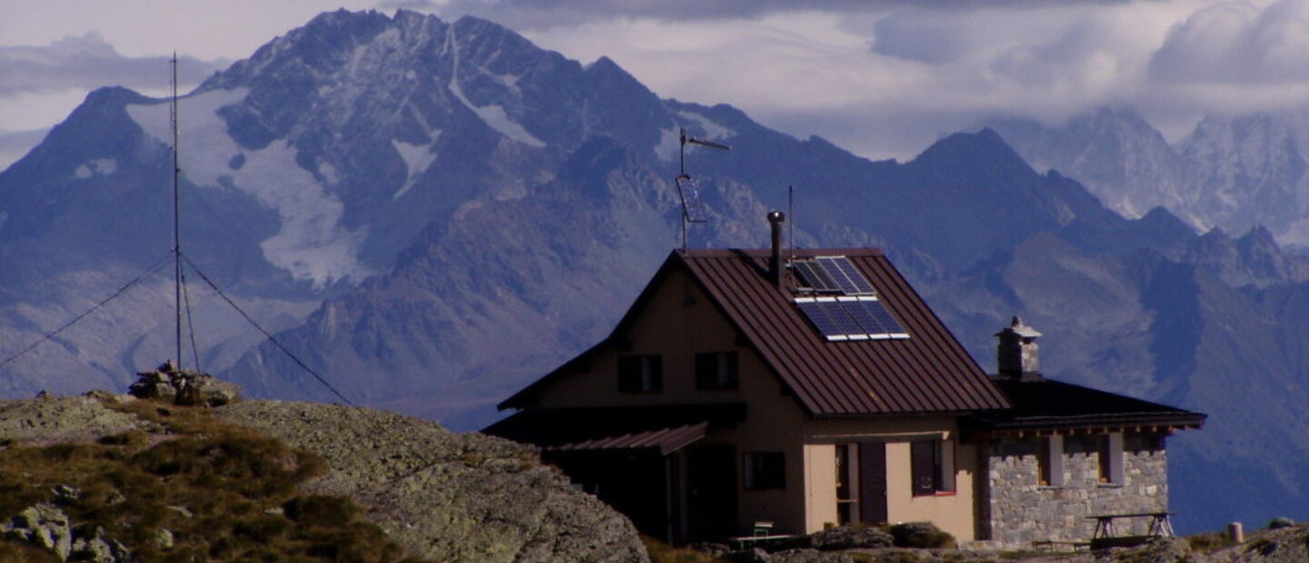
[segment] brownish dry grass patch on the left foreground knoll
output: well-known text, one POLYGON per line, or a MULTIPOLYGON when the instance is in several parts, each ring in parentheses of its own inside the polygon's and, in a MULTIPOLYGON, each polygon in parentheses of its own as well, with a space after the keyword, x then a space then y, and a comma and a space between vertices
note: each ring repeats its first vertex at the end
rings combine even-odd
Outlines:
MULTIPOLYGON (((134 401, 118 409, 162 430, 0 451, 0 519, 54 502, 75 529, 103 528, 143 563, 418 562, 348 498, 298 492, 326 470, 322 458, 200 408, 134 401), (77 492, 59 498, 56 486, 77 492), (168 534, 171 545, 160 539, 168 534)), ((46 555, 0 541, 0 560, 54 560, 46 555)))

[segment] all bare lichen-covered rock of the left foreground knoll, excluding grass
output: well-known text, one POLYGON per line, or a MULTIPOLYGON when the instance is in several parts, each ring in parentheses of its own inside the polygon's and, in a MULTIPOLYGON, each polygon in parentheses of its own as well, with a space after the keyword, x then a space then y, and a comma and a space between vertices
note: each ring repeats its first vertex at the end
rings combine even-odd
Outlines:
MULTIPOLYGON (((148 430, 137 434, 164 443, 183 438, 106 406, 137 401, 130 396, 96 394, 0 402, 0 451, 29 444, 117 443, 113 439, 134 430, 148 430)), ((181 414, 171 406, 168 410, 170 417, 181 414)), ((526 445, 351 406, 249 401, 191 413, 254 428, 322 457, 329 470, 300 491, 350 496, 415 558, 479 563, 649 560, 631 521, 575 490, 558 470, 541 465, 535 449, 526 445)), ((64 511, 81 494, 56 486, 45 502, 18 513, 0 513, 0 541, 39 546, 60 560, 130 560, 128 546, 93 524, 73 521, 73 512, 64 511)), ((190 517, 185 507, 168 508, 190 517)), ((168 550, 174 539, 161 528, 148 543, 168 550)))

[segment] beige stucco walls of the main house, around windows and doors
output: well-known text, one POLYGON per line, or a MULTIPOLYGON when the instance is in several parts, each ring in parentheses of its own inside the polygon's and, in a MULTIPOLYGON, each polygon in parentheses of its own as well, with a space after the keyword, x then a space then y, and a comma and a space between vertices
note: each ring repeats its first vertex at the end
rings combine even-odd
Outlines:
MULTIPOLYGON (((541 391, 541 405, 622 406, 658 404, 746 402, 746 421, 712 432, 702 444, 736 447, 737 533, 749 533, 761 520, 776 533, 812 533, 836 521, 835 453, 833 444, 860 439, 888 442, 888 508, 891 521, 932 520, 959 539, 973 538, 973 473, 977 452, 959 448, 956 461, 958 492, 912 498, 908 440, 956 438, 953 418, 888 417, 812 419, 753 350, 737 342, 736 332, 695 282, 674 272, 651 298, 627 334, 628 350, 598 353, 586 372, 560 378, 541 391), (695 353, 737 351, 740 387, 734 391, 695 388, 695 353), (619 354, 660 354, 662 392, 618 392, 619 354), (745 452, 780 451, 785 456, 785 489, 744 489, 745 452)), ((602 421, 601 421, 602 423, 602 421)))

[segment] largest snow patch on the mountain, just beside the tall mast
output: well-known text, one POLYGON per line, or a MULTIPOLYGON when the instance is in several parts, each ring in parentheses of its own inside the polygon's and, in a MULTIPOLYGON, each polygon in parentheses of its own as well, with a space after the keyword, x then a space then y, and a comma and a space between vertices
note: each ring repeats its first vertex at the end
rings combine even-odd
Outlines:
MULTIPOLYGON (((367 230, 344 227, 344 206, 296 163, 296 149, 288 141, 246 150, 228 135, 217 110, 241 102, 246 93, 245 89, 209 90, 182 101, 179 135, 185 178, 215 189, 233 185, 276 210, 281 229, 259 247, 270 264, 291 272, 296 280, 325 287, 370 276, 372 270, 359 260, 367 230), (240 170, 228 166, 232 154, 243 157, 240 170)), ((127 112, 147 135, 161 142, 171 138, 166 103, 131 105, 127 112)))

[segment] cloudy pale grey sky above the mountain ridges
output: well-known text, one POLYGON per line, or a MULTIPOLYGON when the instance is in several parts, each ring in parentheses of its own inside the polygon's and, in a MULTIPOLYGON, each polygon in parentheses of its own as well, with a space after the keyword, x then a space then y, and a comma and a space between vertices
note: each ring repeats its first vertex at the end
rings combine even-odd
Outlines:
POLYGON ((336 8, 486 17, 869 158, 990 115, 1134 106, 1177 138, 1206 112, 1309 107, 1309 0, 4 0, 0 167, 94 88, 161 95, 177 52, 187 90, 336 8))

